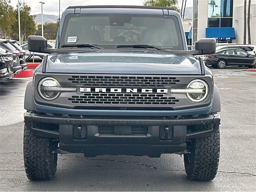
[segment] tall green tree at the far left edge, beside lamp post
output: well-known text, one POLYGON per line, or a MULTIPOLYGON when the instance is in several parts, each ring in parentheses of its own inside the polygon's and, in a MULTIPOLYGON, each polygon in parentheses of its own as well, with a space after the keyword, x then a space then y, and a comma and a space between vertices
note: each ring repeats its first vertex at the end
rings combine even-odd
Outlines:
POLYGON ((10 0, 0 0, 0 28, 4 37, 6 34, 10 36, 12 25, 16 22, 14 9, 9 4, 10 0))

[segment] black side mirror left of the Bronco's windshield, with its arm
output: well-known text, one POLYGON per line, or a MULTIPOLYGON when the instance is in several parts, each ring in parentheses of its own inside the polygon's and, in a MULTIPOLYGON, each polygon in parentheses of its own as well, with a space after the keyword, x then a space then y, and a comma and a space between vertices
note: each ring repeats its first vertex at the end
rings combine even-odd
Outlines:
POLYGON ((47 48, 47 40, 42 36, 30 35, 28 37, 28 50, 30 52, 38 53, 52 53, 56 52, 54 48, 47 48))

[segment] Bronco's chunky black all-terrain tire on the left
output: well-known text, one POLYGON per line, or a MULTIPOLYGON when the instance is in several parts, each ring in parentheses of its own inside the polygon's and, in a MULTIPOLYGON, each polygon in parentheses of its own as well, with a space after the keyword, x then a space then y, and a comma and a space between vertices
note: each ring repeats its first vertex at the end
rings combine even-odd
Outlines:
MULTIPOLYGON (((43 124, 33 123, 33 127, 39 128, 43 124)), ((30 180, 51 180, 57 170, 58 154, 53 153, 58 146, 52 139, 35 136, 33 132, 24 126, 24 166, 26 175, 30 180)))

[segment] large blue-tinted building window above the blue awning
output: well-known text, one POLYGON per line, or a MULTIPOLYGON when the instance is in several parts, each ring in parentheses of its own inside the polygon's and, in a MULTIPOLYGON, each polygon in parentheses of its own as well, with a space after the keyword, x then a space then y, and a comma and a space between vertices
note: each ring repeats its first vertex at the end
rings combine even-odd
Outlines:
POLYGON ((208 27, 232 27, 233 0, 208 0, 208 27))

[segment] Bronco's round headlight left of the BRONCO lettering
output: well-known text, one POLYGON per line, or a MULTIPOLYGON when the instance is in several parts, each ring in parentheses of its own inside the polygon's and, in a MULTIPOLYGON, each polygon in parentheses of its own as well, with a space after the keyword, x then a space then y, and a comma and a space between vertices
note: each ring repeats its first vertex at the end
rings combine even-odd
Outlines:
POLYGON ((54 88, 60 87, 59 82, 51 77, 42 79, 38 84, 38 93, 44 100, 54 100, 56 99, 60 92, 54 90, 54 88))

